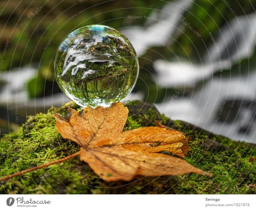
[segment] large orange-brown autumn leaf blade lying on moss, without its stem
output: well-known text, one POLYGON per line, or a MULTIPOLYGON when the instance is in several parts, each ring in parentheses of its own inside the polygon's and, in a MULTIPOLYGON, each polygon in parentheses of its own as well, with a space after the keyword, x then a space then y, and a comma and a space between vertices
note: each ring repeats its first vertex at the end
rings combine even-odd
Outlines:
POLYGON ((135 175, 163 176, 189 172, 211 174, 185 160, 159 153, 168 151, 184 157, 187 138, 177 131, 141 127, 123 132, 128 108, 121 102, 109 108, 86 107, 80 115, 67 107, 66 116, 55 114, 56 128, 65 139, 80 145, 80 160, 105 181, 131 180, 135 175))

